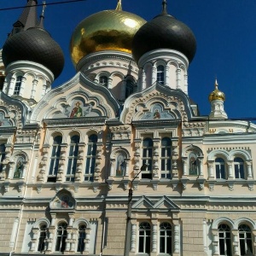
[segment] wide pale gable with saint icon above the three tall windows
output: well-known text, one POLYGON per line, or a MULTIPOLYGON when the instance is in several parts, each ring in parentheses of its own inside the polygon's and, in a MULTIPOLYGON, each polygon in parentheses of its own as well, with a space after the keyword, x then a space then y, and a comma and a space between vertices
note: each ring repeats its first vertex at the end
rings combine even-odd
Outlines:
POLYGON ((73 79, 51 90, 33 109, 32 119, 115 118, 119 103, 102 85, 78 73, 73 79))

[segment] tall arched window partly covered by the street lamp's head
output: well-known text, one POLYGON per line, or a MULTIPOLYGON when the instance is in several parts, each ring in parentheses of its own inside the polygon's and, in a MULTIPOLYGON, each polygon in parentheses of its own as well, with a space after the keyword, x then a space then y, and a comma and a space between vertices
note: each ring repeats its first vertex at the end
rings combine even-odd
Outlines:
POLYGON ((152 179, 153 141, 147 137, 143 140, 143 164, 148 164, 146 171, 142 172, 142 178, 152 179))

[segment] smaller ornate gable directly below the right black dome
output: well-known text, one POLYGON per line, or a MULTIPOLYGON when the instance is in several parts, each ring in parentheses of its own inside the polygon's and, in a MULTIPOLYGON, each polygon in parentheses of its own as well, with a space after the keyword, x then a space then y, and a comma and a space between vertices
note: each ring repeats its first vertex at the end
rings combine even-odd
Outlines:
POLYGON ((189 98, 182 90, 172 90, 155 83, 127 98, 120 119, 126 124, 136 121, 187 121, 192 115, 189 98))

